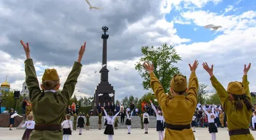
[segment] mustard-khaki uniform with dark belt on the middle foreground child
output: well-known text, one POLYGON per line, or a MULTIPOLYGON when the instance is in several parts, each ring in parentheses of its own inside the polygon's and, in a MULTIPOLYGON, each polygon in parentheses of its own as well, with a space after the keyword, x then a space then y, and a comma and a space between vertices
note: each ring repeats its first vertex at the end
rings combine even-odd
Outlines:
MULTIPOLYGON (((150 85, 154 91, 154 95, 157 98, 157 102, 159 102, 159 105, 161 106, 164 114, 164 120, 166 121, 164 140, 195 139, 193 130, 191 128, 184 128, 182 130, 173 130, 167 128, 167 124, 186 125, 190 127, 197 104, 198 79, 195 72, 191 72, 187 96, 176 95, 175 97, 170 97, 170 95, 166 95, 164 93, 163 86, 154 73, 150 73, 150 78, 150 85)), ((184 84, 181 85, 184 89, 187 88, 185 82, 187 81, 184 80, 184 84)), ((171 82, 171 86, 172 84, 180 85, 180 83, 177 82, 171 82)), ((179 87, 177 86, 176 88, 179 87)))

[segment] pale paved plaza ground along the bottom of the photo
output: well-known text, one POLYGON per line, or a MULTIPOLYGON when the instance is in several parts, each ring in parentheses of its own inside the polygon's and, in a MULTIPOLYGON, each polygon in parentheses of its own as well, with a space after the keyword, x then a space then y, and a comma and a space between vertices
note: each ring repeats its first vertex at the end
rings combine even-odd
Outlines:
MULTIPOLYGON (((227 128, 218 128, 217 140, 228 140, 228 131, 227 128)), ((78 130, 72 132, 70 140, 102 140, 108 139, 108 136, 103 134, 104 129, 102 130, 83 130, 81 136, 78 135, 78 130)), ((158 140, 158 133, 156 128, 149 128, 148 134, 144 134, 144 130, 134 128, 131 129, 131 134, 127 134, 127 129, 122 128, 115 130, 115 140, 158 140)), ((9 128, 0 128, 0 140, 20 140, 24 130, 14 128, 12 131, 9 128)), ((256 139, 256 132, 253 132, 253 137, 256 139)), ((196 138, 198 140, 211 140, 211 136, 207 128, 196 128, 195 132, 196 138)), ((54 139, 52 139, 54 140, 54 139)))

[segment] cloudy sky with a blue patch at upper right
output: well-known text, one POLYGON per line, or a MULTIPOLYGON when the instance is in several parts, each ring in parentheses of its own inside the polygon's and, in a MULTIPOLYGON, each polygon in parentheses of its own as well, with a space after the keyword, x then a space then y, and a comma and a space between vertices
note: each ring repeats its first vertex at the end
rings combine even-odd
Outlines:
POLYGON ((141 97, 142 79, 134 69, 145 45, 175 45, 183 61, 180 72, 188 75, 188 63, 198 59, 200 82, 212 88, 202 62, 214 64, 214 74, 227 87, 241 81, 243 65, 252 62, 248 73, 250 90, 256 91, 256 4, 253 0, 99 0, 91 10, 84 0, 0 1, 0 81, 8 75, 13 89, 25 80, 24 51, 20 40, 29 42, 38 80, 45 68, 56 68, 61 84, 87 42, 83 70, 76 86, 78 96, 92 96, 99 84, 102 61, 102 26, 109 27, 109 82, 115 98, 141 97), (220 25, 218 31, 205 29, 220 25), (114 67, 119 68, 115 71, 114 67), (97 70, 97 75, 94 74, 97 70), (124 92, 124 94, 121 94, 124 92))

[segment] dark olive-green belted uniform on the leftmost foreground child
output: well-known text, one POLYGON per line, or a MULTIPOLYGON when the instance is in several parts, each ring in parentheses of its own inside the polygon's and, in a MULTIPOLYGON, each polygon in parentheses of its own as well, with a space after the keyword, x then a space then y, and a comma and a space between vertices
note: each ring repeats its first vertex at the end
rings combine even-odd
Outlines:
MULTIPOLYGON (((63 116, 65 116, 68 100, 70 100, 74 93, 81 68, 81 63, 74 63, 61 92, 53 90, 44 92, 39 88, 33 60, 26 59, 26 84, 29 89, 29 98, 33 104, 32 111, 36 125, 52 125, 52 128, 54 126, 60 126, 63 121, 63 116)), ((47 70, 45 70, 45 72, 47 72, 47 70)), ((50 77, 46 76, 46 79, 50 77)), ((59 130, 36 130, 36 126, 35 130, 31 132, 30 137, 31 140, 61 140, 62 138, 63 130, 61 130, 61 127, 59 130)))

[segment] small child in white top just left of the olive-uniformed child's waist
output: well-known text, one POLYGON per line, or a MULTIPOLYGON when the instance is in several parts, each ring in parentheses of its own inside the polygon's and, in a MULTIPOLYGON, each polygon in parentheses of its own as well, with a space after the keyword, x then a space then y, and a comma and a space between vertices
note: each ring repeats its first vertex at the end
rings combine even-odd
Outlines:
POLYGON ((35 121, 33 121, 33 116, 31 114, 27 116, 27 121, 24 123, 24 125, 22 125, 22 127, 27 127, 22 136, 22 140, 29 140, 30 133, 35 128, 35 121))

